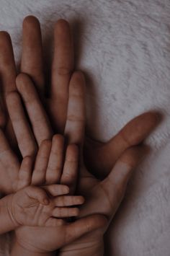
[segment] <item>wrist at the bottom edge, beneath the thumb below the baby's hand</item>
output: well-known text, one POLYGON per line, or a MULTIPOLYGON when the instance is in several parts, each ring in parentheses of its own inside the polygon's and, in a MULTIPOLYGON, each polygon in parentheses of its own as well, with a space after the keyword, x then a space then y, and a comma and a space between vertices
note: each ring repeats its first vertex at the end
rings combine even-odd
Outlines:
POLYGON ((104 240, 74 242, 61 248, 59 256, 103 256, 104 240))

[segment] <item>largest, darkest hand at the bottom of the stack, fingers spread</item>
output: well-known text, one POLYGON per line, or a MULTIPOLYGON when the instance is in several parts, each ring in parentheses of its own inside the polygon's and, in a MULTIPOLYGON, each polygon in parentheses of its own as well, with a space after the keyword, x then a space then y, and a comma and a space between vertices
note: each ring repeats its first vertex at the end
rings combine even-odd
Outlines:
MULTIPOLYGON (((54 54, 50 78, 45 78, 42 58, 42 39, 40 24, 35 17, 26 17, 22 31, 22 61, 20 71, 29 74, 35 82, 40 94, 45 92, 45 81, 48 84, 50 97, 48 97, 48 113, 53 127, 58 133, 63 133, 66 125, 68 88, 73 72, 73 43, 71 29, 68 22, 61 19, 54 28, 54 54)), ((16 90, 16 69, 12 43, 6 32, 0 33, 0 71, 4 102, 9 92, 16 90)), ((77 74, 76 76, 81 76, 77 74)), ((78 78, 79 79, 79 78, 78 78)), ((80 78, 81 79, 81 78, 80 78)), ((3 105, 5 109, 5 104, 3 105)), ((112 164, 120 152, 130 146, 138 145, 143 141, 158 123, 158 117, 154 112, 148 112, 135 118, 131 123, 114 136, 107 143, 97 143, 85 139, 84 158, 89 169, 99 177, 106 176, 112 169, 112 164), (117 144, 120 148, 117 149, 117 144), (101 161, 101 156, 104 161, 101 161), (98 173, 99 172, 99 173, 98 173)), ((12 125, 7 115, 1 115, 0 125, 8 131, 10 141, 14 140, 12 125)))

